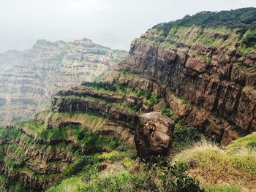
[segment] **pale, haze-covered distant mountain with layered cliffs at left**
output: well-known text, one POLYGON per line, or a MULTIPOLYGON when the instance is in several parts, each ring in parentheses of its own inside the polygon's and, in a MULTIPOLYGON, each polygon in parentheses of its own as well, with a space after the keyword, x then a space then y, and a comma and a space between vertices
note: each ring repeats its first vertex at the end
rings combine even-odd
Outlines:
MULTIPOLYGON (((60 88, 93 80, 121 61, 126 52, 111 50, 89 39, 37 43, 0 76, 0 122, 22 120, 48 109, 60 88)), ((3 62, 4 65, 4 62, 3 62)))

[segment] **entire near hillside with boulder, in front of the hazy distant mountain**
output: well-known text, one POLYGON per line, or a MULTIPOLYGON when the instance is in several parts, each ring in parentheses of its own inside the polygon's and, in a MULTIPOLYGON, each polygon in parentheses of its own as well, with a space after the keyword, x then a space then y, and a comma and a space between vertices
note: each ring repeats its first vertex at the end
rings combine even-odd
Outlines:
POLYGON ((255 190, 255 18, 246 8, 160 23, 114 70, 1 128, 2 188, 255 190))

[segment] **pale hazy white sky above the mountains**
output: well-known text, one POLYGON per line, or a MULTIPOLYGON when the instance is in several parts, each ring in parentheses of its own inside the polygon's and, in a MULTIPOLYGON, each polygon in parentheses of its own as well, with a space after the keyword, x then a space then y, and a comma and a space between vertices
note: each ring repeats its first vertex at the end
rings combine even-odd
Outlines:
POLYGON ((256 7, 256 0, 0 0, 0 52, 23 50, 37 39, 83 37, 129 50, 157 23, 203 10, 256 7))

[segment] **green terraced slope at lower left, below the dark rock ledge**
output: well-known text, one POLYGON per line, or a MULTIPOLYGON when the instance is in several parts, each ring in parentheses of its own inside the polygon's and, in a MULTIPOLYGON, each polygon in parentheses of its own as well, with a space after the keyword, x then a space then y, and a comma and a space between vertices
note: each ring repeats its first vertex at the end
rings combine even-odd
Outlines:
POLYGON ((45 191, 80 155, 108 151, 120 138, 134 146, 132 132, 89 113, 42 112, 34 120, 0 129, 0 172, 6 188, 45 191))

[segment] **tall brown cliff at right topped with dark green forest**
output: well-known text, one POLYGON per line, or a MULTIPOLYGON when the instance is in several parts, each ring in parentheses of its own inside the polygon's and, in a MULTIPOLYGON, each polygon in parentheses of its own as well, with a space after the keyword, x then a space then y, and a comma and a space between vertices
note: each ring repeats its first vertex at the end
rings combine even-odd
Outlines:
POLYGON ((218 140, 256 131, 256 49, 251 38, 256 31, 253 20, 243 18, 253 18, 255 12, 201 12, 154 26, 132 42, 117 69, 164 85, 176 114, 203 131, 218 132, 218 140), (189 103, 187 111, 178 109, 177 96, 189 103))

